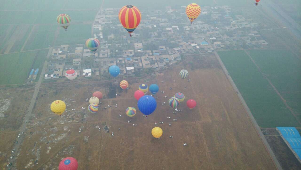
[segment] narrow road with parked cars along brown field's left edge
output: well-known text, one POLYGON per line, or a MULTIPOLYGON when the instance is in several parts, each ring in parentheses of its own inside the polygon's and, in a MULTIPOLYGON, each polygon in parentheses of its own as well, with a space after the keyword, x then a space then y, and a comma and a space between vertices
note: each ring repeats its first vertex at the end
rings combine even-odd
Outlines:
MULTIPOLYGON (((47 59, 49 58, 51 52, 52 52, 52 47, 49 48, 49 51, 48 51, 48 54, 47 54, 47 59)), ((33 107, 36 103, 36 98, 37 98, 38 93, 39 93, 40 85, 42 83, 42 80, 43 80, 43 77, 44 77, 44 74, 45 74, 45 71, 46 71, 46 68, 47 68, 47 64, 48 64, 48 62, 46 60, 44 65, 43 65, 42 72, 41 72, 41 75, 39 77, 39 81, 36 84, 35 91, 33 92, 33 97, 30 100, 28 110, 26 111, 25 119, 23 120, 23 124, 21 125, 20 134, 25 131, 25 129, 26 129, 26 120, 29 120, 29 117, 31 116, 31 113, 33 111, 33 107)), ((14 162, 13 163, 14 165, 16 164, 16 161, 17 161, 17 159, 16 159, 17 156, 16 155, 19 152, 20 145, 21 145, 23 139, 24 139, 24 135, 21 135, 20 138, 17 138, 18 143, 13 148, 13 149, 15 149, 15 152, 14 152, 15 157, 13 159, 11 159, 10 162, 14 162)), ((15 169, 15 167, 13 167, 12 169, 15 169)))

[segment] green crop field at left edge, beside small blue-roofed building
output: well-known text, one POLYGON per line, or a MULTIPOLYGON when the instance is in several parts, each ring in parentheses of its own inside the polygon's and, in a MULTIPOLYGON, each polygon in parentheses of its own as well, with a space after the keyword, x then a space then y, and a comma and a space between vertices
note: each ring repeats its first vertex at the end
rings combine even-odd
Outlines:
POLYGON ((41 68, 47 52, 48 49, 0 55, 0 85, 25 83, 33 64, 41 68), (33 63, 36 57, 37 61, 33 63))

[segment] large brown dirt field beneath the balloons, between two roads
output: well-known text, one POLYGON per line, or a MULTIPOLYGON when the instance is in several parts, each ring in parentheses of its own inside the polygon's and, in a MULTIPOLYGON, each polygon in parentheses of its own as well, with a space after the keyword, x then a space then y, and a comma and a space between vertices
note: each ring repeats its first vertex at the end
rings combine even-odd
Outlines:
MULTIPOLYGON (((186 57, 188 61, 191 59, 186 57)), ((27 125, 17 169, 57 169, 60 160, 67 156, 78 160, 78 169, 276 169, 215 56, 196 56, 195 59, 198 62, 175 65, 146 83, 157 83, 160 90, 165 91, 157 93, 157 109, 147 118, 138 111, 133 97, 143 81, 131 84, 116 98, 101 100, 97 114, 80 108, 88 106, 85 99, 93 91, 108 94, 108 85, 76 81, 44 84, 34 109, 36 117, 27 125), (188 69, 191 82, 179 77, 178 72, 183 68, 188 69), (172 108, 161 103, 167 103, 176 92, 184 93, 185 101, 178 106, 182 112, 172 114, 172 108), (164 98, 165 95, 168 98, 164 98), (185 104, 189 98, 197 101, 192 111, 185 104), (61 117, 49 109, 50 103, 57 99, 71 104, 67 106, 70 112, 61 117), (114 104, 118 107, 101 109, 114 104), (135 107, 137 114, 127 123, 130 118, 124 111, 129 106, 135 107), (76 110, 71 111, 72 108, 76 110), (160 140, 151 135, 154 122, 163 129, 160 140), (133 127, 133 123, 138 126, 133 127), (106 124, 110 133, 103 130, 106 124), (184 143, 187 146, 183 146, 184 143)))

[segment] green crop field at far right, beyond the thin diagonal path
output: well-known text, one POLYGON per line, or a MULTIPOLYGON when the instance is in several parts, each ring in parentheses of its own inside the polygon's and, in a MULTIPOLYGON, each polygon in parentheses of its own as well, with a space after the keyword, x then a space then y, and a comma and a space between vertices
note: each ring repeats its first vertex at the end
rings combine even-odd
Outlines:
POLYGON ((288 50, 248 50, 301 120, 301 61, 288 50))

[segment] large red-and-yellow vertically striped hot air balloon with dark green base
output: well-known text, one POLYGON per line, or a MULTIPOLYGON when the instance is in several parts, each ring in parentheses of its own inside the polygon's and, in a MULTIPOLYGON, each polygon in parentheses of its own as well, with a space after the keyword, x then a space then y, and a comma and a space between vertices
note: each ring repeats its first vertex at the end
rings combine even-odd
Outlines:
POLYGON ((138 27, 141 20, 139 9, 133 5, 126 5, 120 9, 118 16, 120 23, 132 37, 131 33, 138 27))

